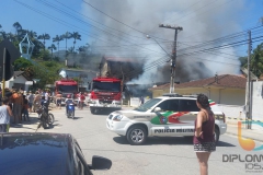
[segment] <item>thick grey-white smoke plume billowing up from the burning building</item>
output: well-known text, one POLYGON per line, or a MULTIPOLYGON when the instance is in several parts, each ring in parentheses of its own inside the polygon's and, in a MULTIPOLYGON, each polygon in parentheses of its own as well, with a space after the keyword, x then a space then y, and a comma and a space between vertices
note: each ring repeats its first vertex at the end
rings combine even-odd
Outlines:
MULTIPOLYGON (((237 18, 240 11, 244 8, 243 0, 85 1, 119 22, 144 33, 127 27, 82 2, 82 11, 85 15, 107 25, 108 27, 125 33, 119 33, 104 26, 101 26, 101 28, 105 32, 93 27, 89 28, 93 35, 96 35, 96 37, 100 38, 95 40, 98 47, 95 46, 94 48, 96 51, 110 56, 129 57, 138 60, 144 58, 144 60, 146 60, 145 72, 138 80, 134 80, 133 83, 150 84, 155 82, 167 82, 170 79, 169 71, 160 71, 160 67, 169 65, 165 62, 165 60, 169 60, 169 56, 167 56, 156 40, 170 54, 172 50, 174 31, 159 27, 160 23, 183 27, 183 31, 178 35, 178 59, 182 62, 181 67, 185 66, 186 70, 184 71, 186 73, 182 73, 184 77, 176 77, 178 81, 201 78, 196 71, 203 70, 198 70, 197 68, 191 69, 191 66, 194 66, 193 62, 203 62, 205 67, 210 70, 207 73, 202 72, 203 74, 206 73, 206 77, 211 77, 215 73, 222 74, 239 72, 239 61, 238 58, 235 57, 236 51, 233 48, 230 47, 216 51, 195 52, 194 50, 190 50, 188 47, 241 31, 237 18), (108 33, 116 36, 112 36, 108 33), (146 34, 156 37, 156 40, 153 38, 147 38, 146 34), (156 67, 157 65, 155 61, 157 60, 162 61, 162 63, 159 63, 159 67, 156 67), (185 79, 185 77, 187 78, 185 79)), ((91 23, 98 25, 96 23, 91 23)), ((213 46, 214 44, 204 48, 213 46)))

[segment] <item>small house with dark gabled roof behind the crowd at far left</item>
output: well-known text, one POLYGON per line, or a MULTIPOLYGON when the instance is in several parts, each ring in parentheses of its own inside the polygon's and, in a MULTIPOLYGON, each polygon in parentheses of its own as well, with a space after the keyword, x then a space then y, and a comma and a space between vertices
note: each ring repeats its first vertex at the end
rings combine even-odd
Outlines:
MULTIPOLYGON (((28 78, 24 71, 14 71, 13 77, 5 81, 5 88, 9 89, 20 89, 22 88, 24 91, 28 91, 28 88, 33 85, 33 80, 28 78)), ((1 83, 2 86, 2 83, 1 83)))

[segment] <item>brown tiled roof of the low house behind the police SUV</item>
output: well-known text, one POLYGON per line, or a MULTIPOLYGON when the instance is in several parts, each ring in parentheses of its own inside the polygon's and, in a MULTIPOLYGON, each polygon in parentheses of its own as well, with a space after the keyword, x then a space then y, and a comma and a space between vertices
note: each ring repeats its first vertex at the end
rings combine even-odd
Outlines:
MULTIPOLYGON (((174 84, 174 92, 181 95, 206 94, 217 104, 244 105, 247 78, 236 74, 221 74, 207 79, 174 84)), ((152 97, 170 92, 170 83, 150 89, 152 97)))

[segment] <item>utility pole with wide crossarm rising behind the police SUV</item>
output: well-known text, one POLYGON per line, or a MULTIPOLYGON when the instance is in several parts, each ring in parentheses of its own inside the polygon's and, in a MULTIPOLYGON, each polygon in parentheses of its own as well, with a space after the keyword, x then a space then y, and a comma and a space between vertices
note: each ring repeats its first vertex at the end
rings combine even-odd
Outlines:
POLYGON ((172 50, 172 58, 171 58, 171 81, 170 81, 170 93, 174 93, 174 79, 175 79, 175 67, 176 67, 176 43, 178 43, 178 32, 183 31, 183 27, 181 26, 171 26, 171 25, 163 25, 160 24, 159 27, 164 27, 164 28, 171 28, 175 30, 174 34, 174 43, 173 43, 173 50, 172 50))

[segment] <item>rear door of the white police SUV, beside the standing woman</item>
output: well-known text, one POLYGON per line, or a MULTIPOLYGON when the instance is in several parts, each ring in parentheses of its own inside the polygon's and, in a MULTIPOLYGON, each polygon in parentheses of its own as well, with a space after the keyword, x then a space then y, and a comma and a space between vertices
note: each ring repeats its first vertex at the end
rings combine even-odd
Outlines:
POLYGON ((182 136, 194 136, 195 118, 199 112, 196 100, 181 98, 179 105, 180 124, 182 126, 182 136))

